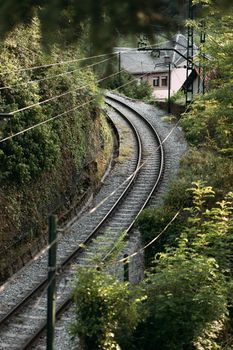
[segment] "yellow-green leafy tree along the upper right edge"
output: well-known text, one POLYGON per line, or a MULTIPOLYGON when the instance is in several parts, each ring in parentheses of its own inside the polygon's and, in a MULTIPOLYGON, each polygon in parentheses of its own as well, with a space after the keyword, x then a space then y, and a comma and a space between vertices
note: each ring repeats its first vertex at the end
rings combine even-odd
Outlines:
MULTIPOLYGON (((211 1, 210 1, 211 3, 211 1)), ((182 126, 193 145, 205 145, 218 153, 232 158, 233 121, 233 12, 222 14, 217 7, 206 8, 208 17, 204 18, 208 33, 200 57, 205 69, 207 94, 197 98, 191 111, 183 116, 182 126)), ((202 21, 194 23, 195 29, 203 30, 202 21)))

